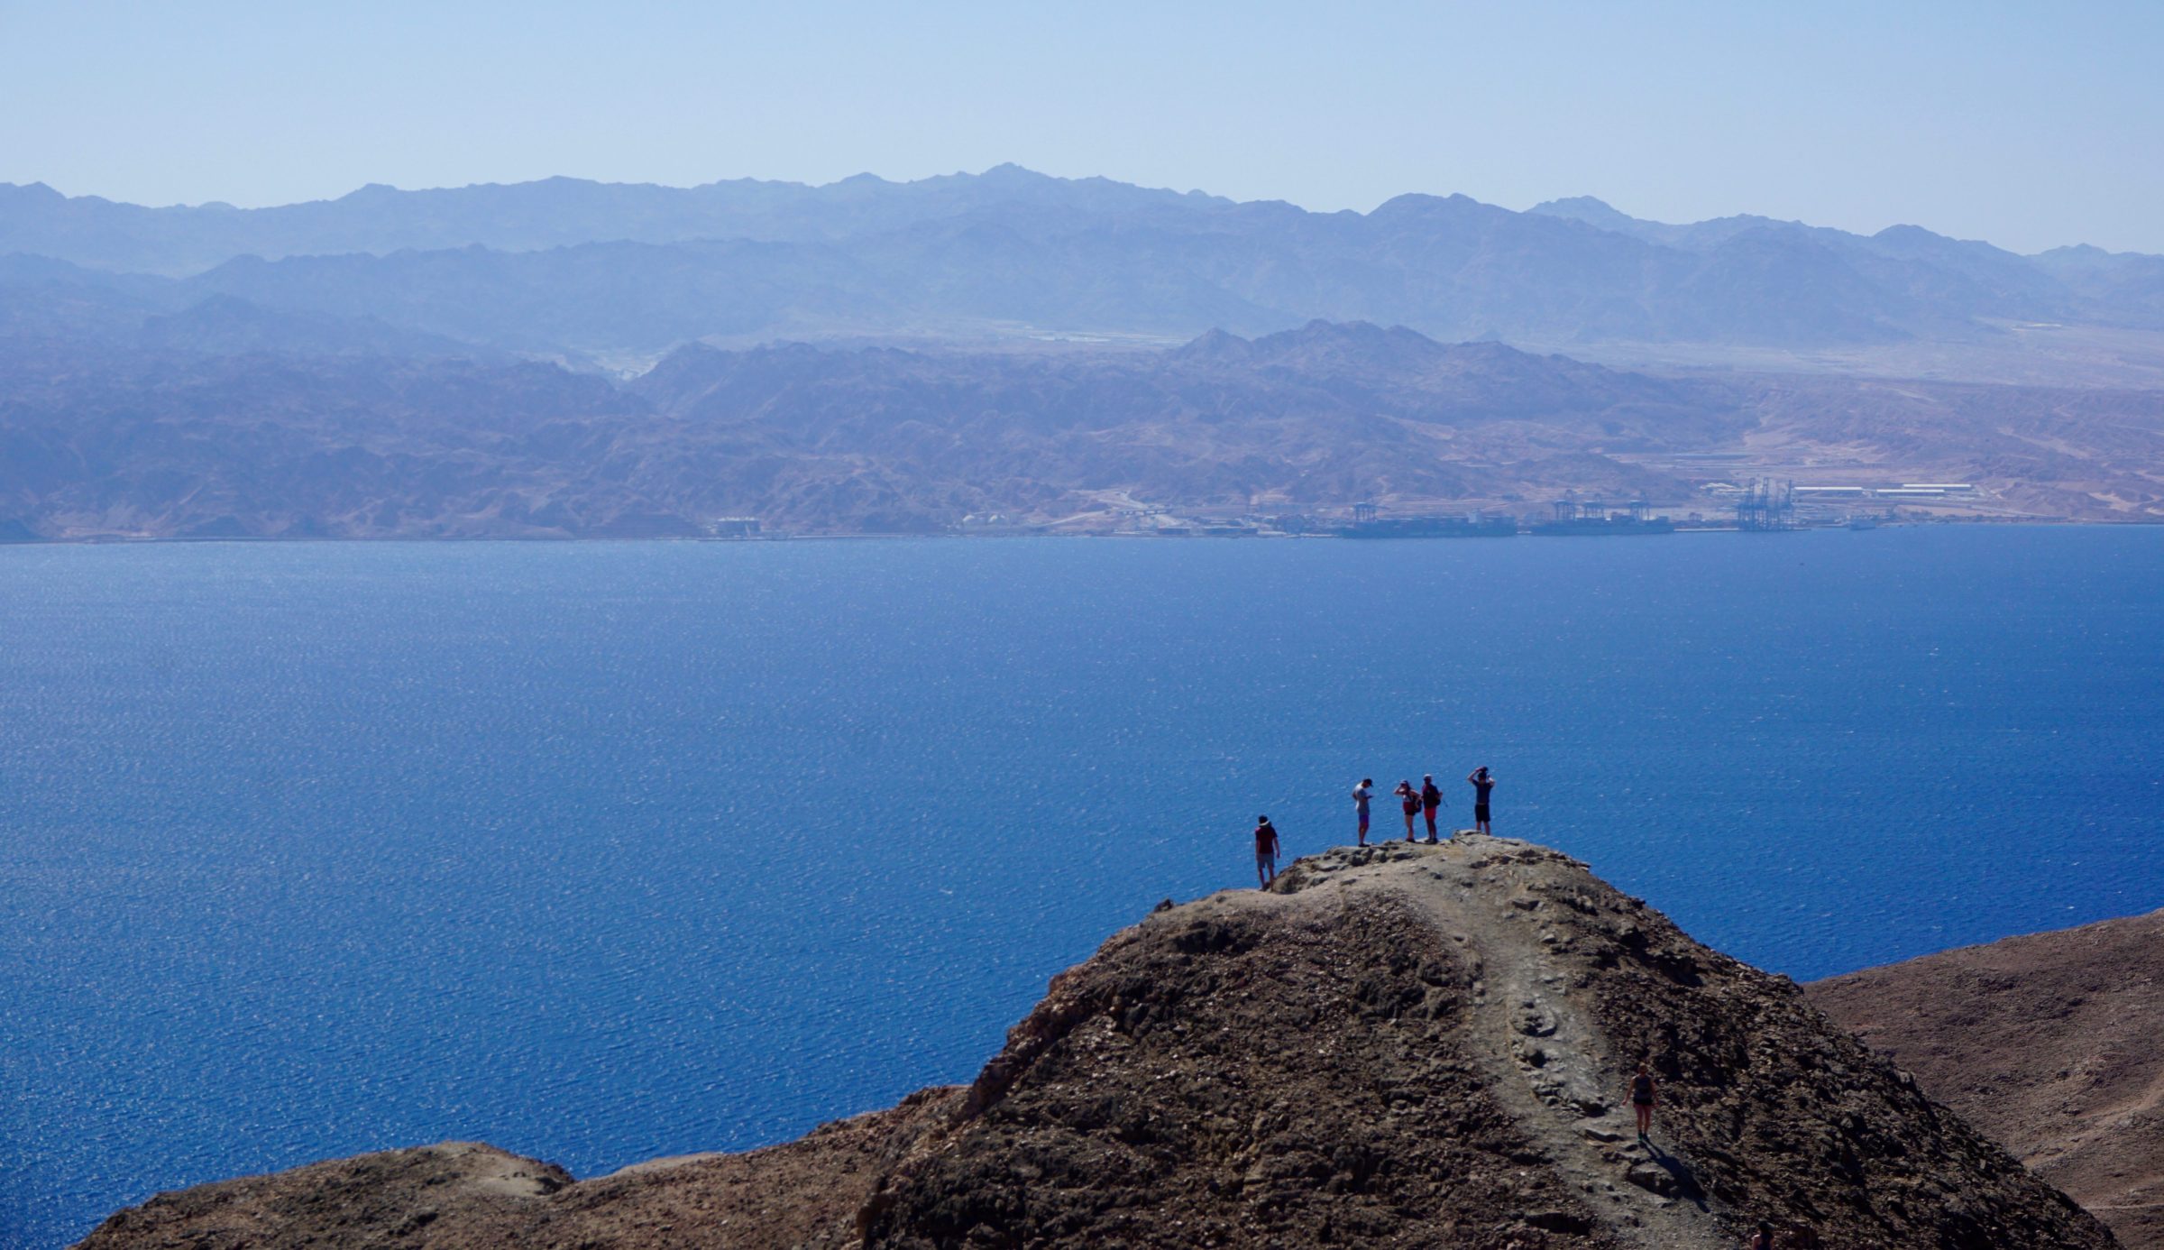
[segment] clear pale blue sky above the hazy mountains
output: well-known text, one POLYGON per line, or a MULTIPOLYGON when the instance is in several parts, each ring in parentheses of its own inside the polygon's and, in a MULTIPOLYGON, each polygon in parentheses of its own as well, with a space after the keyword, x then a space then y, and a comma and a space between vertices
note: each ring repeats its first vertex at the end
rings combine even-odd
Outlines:
POLYGON ((2164 251, 2164 0, 0 0, 0 179, 145 203, 1045 173, 2164 251))

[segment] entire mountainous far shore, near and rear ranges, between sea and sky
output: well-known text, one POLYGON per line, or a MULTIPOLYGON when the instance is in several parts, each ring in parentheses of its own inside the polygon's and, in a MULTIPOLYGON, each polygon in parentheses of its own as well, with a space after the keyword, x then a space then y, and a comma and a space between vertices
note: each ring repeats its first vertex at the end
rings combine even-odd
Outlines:
POLYGON ((1017 167, 264 210, 0 188, 13 536, 1712 513, 1753 474, 2138 519, 2160 396, 2164 257, 1919 227, 1318 214, 1017 167))

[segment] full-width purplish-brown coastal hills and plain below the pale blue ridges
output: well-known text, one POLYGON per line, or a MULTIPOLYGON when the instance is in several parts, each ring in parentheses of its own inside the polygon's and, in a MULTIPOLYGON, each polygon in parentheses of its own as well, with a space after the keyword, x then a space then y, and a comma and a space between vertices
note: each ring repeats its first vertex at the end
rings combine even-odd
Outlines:
POLYGON ((718 517, 941 532, 993 515, 1104 532, 1149 508, 1342 517, 1355 500, 1543 515, 1569 491, 1718 508, 1707 480, 1751 456, 1835 454, 1874 480, 1976 480, 2002 510, 2164 510, 2158 391, 1653 376, 1363 322, 1164 350, 692 344, 625 383, 320 350, 370 329, 435 346, 247 305, 151 316, 119 346, 0 333, 0 536, 690 536, 718 517))

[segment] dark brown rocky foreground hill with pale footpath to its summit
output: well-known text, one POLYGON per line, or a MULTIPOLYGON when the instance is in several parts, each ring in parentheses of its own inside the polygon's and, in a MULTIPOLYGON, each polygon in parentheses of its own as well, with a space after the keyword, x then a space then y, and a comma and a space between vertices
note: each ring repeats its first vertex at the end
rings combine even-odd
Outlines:
POLYGON ((82 1246, 2114 1246, 1781 978, 1519 841, 1335 850, 1054 978, 967 1088, 571 1181, 428 1146, 82 1246), (1653 1144, 1621 1103, 1649 1058, 1653 1144))

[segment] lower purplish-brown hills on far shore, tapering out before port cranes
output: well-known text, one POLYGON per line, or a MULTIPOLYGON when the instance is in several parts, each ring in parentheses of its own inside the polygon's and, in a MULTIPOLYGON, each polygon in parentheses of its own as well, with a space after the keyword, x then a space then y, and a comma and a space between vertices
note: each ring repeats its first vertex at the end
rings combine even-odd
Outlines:
POLYGON ((1705 385, 1320 322, 1182 353, 686 348, 628 387, 541 363, 65 340, 9 370, 6 348, 0 333, 0 521, 48 538, 677 536, 729 515, 1112 528, 1110 491, 1270 513, 1629 497, 1684 484, 1591 439, 1686 448, 1744 426, 1705 385))

